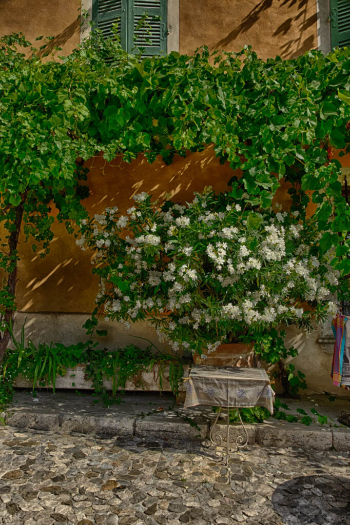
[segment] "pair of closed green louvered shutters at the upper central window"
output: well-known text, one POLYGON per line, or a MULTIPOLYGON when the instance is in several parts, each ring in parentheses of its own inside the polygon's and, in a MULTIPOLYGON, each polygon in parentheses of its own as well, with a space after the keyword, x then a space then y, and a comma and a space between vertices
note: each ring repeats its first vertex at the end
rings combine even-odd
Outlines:
POLYGON ((94 0, 92 20, 106 38, 118 23, 121 46, 128 53, 167 53, 167 0, 94 0))

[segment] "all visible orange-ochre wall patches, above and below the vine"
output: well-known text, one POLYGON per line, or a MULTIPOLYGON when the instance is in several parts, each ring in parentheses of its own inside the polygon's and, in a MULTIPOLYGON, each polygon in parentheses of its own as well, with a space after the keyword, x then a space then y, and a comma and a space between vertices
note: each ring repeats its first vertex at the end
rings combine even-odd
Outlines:
MULTIPOLYGON (((23 31, 31 41, 40 35, 55 35, 52 45, 69 54, 80 40, 79 7, 80 0, 2 0, 0 35, 23 31)), ((252 44, 262 58, 276 54, 291 57, 314 48, 315 0, 180 0, 181 53, 192 54, 201 45, 237 51, 244 44, 252 44)), ((86 205, 92 214, 111 204, 123 212, 132 204, 132 195, 140 191, 155 197, 171 192, 180 202, 205 185, 222 191, 232 176, 229 165, 220 166, 212 149, 189 154, 186 159, 176 156, 170 166, 160 160, 149 165, 142 157, 130 165, 121 159, 105 165, 101 158, 90 165, 92 191, 86 205)), ((285 188, 281 188, 280 199, 289 199, 285 188)), ((33 253, 32 243, 21 239, 18 308, 90 312, 97 292, 90 254, 78 249, 63 225, 55 223, 54 233, 51 253, 44 259, 33 253)))

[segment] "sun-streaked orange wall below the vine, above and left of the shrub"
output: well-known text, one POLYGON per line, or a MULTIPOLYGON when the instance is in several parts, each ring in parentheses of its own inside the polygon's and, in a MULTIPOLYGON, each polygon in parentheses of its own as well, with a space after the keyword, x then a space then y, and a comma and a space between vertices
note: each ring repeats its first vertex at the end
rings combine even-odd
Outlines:
MULTIPOLYGON (((179 155, 167 166, 157 159, 149 164, 143 156, 131 164, 117 158, 110 163, 102 157, 87 163, 91 195, 84 202, 89 213, 101 213, 107 206, 118 206, 125 213, 132 206, 132 196, 149 192, 154 198, 169 193, 174 201, 189 201, 194 191, 212 186, 217 192, 227 190, 233 175, 228 163, 220 165, 212 148, 179 155)), ((53 212, 54 213, 54 212, 53 212)), ((94 308, 98 279, 91 274, 91 253, 80 250, 63 224, 53 225, 50 254, 40 258, 32 243, 20 243, 18 273, 18 309, 37 312, 91 312, 94 308)))

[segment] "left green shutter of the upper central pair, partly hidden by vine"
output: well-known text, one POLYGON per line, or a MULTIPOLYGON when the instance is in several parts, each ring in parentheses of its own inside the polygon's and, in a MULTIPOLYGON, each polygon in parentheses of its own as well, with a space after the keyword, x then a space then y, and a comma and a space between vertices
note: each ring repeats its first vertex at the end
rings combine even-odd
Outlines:
POLYGON ((112 36, 112 25, 118 23, 121 46, 127 48, 127 0, 94 0, 92 20, 104 38, 112 36))

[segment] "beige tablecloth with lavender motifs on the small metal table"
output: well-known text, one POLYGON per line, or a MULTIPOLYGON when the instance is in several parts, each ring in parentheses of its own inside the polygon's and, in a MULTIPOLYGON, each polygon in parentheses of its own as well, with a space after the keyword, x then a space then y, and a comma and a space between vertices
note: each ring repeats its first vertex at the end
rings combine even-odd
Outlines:
POLYGON ((273 414, 274 392, 260 368, 193 365, 187 380, 184 408, 264 406, 273 414))

